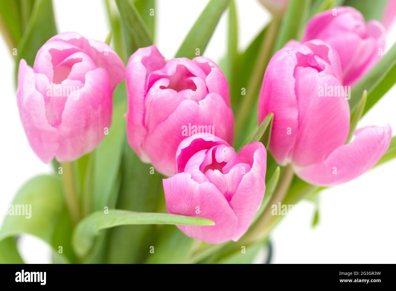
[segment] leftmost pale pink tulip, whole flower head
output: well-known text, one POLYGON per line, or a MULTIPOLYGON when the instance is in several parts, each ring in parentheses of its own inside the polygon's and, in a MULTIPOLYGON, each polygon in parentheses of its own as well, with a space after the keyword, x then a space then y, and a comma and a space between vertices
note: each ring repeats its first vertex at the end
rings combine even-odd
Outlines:
POLYGON ((76 32, 50 38, 33 68, 19 63, 17 105, 29 144, 44 162, 93 150, 110 127, 112 91, 125 67, 105 43, 76 32))

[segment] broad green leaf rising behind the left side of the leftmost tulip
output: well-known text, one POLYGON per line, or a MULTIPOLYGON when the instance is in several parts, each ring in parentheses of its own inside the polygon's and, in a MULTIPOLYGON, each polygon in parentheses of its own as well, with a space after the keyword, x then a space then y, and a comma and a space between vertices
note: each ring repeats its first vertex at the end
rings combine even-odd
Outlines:
POLYGON ((55 34, 57 34, 57 30, 52 1, 35 0, 32 15, 18 46, 15 80, 18 74, 19 61, 25 59, 27 64, 32 67, 38 49, 55 34))

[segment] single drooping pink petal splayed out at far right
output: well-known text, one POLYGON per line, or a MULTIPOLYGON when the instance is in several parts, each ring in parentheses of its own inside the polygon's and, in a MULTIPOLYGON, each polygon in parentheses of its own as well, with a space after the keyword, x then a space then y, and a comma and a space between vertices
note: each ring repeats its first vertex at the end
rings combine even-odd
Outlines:
POLYGON ((350 181, 373 167, 390 145, 392 130, 386 127, 363 127, 347 145, 336 148, 316 164, 296 168, 301 179, 311 184, 332 186, 350 181))

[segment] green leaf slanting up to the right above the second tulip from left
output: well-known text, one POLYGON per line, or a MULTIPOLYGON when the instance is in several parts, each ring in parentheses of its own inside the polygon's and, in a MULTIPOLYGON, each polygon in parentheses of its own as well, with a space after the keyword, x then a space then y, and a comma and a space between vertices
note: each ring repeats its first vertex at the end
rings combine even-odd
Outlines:
POLYGON ((217 23, 229 2, 230 0, 210 0, 190 32, 188 32, 183 44, 181 44, 179 51, 176 53, 176 57, 192 59, 197 56, 196 49, 199 49, 199 55, 204 53, 217 23))

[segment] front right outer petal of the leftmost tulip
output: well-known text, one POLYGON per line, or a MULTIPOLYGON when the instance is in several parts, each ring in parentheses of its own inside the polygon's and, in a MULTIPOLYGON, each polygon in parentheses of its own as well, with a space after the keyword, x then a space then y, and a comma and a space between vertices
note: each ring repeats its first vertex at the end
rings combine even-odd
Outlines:
MULTIPOLYGON (((59 162, 72 161, 93 150, 105 137, 111 125, 112 90, 105 69, 86 74, 85 86, 67 98, 58 126, 59 162)), ((111 132, 111 129, 110 129, 111 132)))

